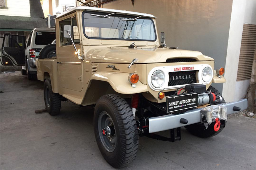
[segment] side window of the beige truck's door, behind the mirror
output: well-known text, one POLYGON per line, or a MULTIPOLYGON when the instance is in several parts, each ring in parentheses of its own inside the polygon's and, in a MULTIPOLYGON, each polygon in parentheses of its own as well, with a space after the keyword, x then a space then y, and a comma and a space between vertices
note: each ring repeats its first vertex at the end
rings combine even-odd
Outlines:
POLYGON ((75 44, 80 44, 80 38, 79 38, 79 31, 78 31, 78 26, 76 22, 76 17, 70 17, 67 18, 63 21, 60 21, 60 44, 61 46, 65 45, 72 45, 71 39, 70 38, 65 38, 64 37, 64 25, 71 25, 72 27, 72 32, 71 36, 75 44))

